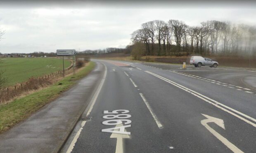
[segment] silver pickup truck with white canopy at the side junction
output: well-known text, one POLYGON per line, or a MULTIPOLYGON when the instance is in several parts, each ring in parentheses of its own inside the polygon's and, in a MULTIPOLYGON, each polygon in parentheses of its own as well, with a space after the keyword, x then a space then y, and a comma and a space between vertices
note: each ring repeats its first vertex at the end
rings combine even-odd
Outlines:
POLYGON ((190 65, 194 65, 194 67, 209 66, 216 68, 219 63, 211 60, 210 58, 203 58, 202 56, 192 56, 190 58, 190 65))

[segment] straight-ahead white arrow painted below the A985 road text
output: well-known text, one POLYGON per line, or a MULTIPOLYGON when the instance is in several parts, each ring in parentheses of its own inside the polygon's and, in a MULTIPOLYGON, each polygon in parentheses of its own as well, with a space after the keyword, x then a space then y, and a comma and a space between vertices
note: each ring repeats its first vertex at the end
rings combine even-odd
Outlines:
MULTIPOLYGON (((116 127, 121 127, 121 126, 123 126, 122 123, 119 125, 116 125, 116 127)), ((117 131, 117 129, 115 131, 117 131)), ((130 136, 129 134, 112 133, 110 138, 116 138, 116 153, 123 153, 123 139, 130 138, 130 136)))

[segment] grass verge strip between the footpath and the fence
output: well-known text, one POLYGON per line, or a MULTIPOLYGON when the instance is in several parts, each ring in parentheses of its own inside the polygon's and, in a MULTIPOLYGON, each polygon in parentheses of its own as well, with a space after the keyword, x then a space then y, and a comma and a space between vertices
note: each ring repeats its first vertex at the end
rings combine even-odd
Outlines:
POLYGON ((13 102, 0 105, 0 133, 28 118, 33 112, 38 111, 38 109, 45 106, 45 104, 59 97, 62 92, 71 88, 78 79, 90 73, 94 67, 95 63, 90 62, 85 67, 81 68, 76 73, 76 76, 67 76, 52 86, 25 97, 18 98, 13 102))

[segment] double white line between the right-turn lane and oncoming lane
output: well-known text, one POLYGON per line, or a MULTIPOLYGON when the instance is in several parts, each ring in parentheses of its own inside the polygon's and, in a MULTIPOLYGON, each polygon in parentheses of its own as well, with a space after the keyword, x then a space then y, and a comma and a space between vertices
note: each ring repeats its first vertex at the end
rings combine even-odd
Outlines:
POLYGON ((145 72, 147 72, 147 73, 149 73, 149 74, 151 74, 151 75, 153 75, 153 76, 156 76, 156 77, 158 77, 159 79, 162 79, 162 80, 164 80, 164 81, 166 81, 166 82, 172 84, 173 86, 176 86, 176 87, 178 87, 178 88, 180 88, 180 89, 182 89, 182 90, 185 90, 185 91, 187 91, 188 93, 190 93, 190 94, 192 94, 192 95, 194 95, 194 96, 196 96, 196 97, 199 97, 201 100, 204 100, 205 102, 208 102, 208 103, 212 104, 213 106, 218 107, 219 109, 221 109, 221 110, 223 110, 223 111, 226 111, 226 112, 228 112, 229 114, 232 114, 233 116, 235 116, 235 117, 237 117, 237 118, 239 118, 239 119, 245 121, 246 123, 249 123, 249 124, 253 125, 254 127, 256 127, 256 124, 251 122, 251 121, 256 122, 256 119, 255 119, 255 118, 252 118, 252 117, 250 117, 250 116, 248 116, 248 115, 246 115, 246 114, 243 114, 243 113, 241 113, 241 112, 239 112, 239 111, 237 111, 237 110, 235 110, 235 109, 232 109, 232 108, 230 108, 230 107, 228 107, 228 106, 226 106, 226 105, 224 105, 224 104, 221 104, 220 102, 217 102, 217 101, 215 101, 215 100, 212 100, 212 99, 209 98, 209 97, 206 97, 206 96, 204 96, 204 95, 202 95, 202 94, 200 94, 200 93, 197 93, 197 92, 195 92, 194 90, 191 90, 191 89, 189 89, 189 88, 186 88, 186 87, 184 87, 184 86, 182 86, 182 85, 180 85, 180 84, 178 84, 178 83, 175 83, 175 82, 173 82, 173 81, 171 81, 171 80, 168 80, 168 79, 166 79, 166 78, 164 78, 164 77, 162 77, 162 76, 159 76, 159 75, 154 74, 154 73, 149 72, 149 71, 145 71, 145 72), (209 100, 210 100, 210 101, 209 101, 209 100), (225 108, 223 108, 223 107, 225 107, 225 108), (228 110, 228 109, 229 109, 229 110, 228 110), (239 115, 233 113, 232 111, 234 111, 235 113, 237 113, 237 114, 239 114, 239 115, 241 115, 241 116, 243 116, 243 117, 245 117, 245 118, 243 118, 243 117, 241 117, 241 116, 239 116, 239 115), (246 118, 250 119, 251 121, 247 120, 246 118))

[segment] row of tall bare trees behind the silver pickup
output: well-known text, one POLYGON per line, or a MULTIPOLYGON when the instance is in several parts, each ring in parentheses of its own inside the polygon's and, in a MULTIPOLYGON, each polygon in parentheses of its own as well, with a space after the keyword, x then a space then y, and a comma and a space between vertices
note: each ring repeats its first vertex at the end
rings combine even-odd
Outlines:
POLYGON ((206 21, 188 26, 179 20, 142 23, 131 34, 133 44, 143 43, 144 55, 222 54, 256 56, 256 27, 228 21, 206 21))

